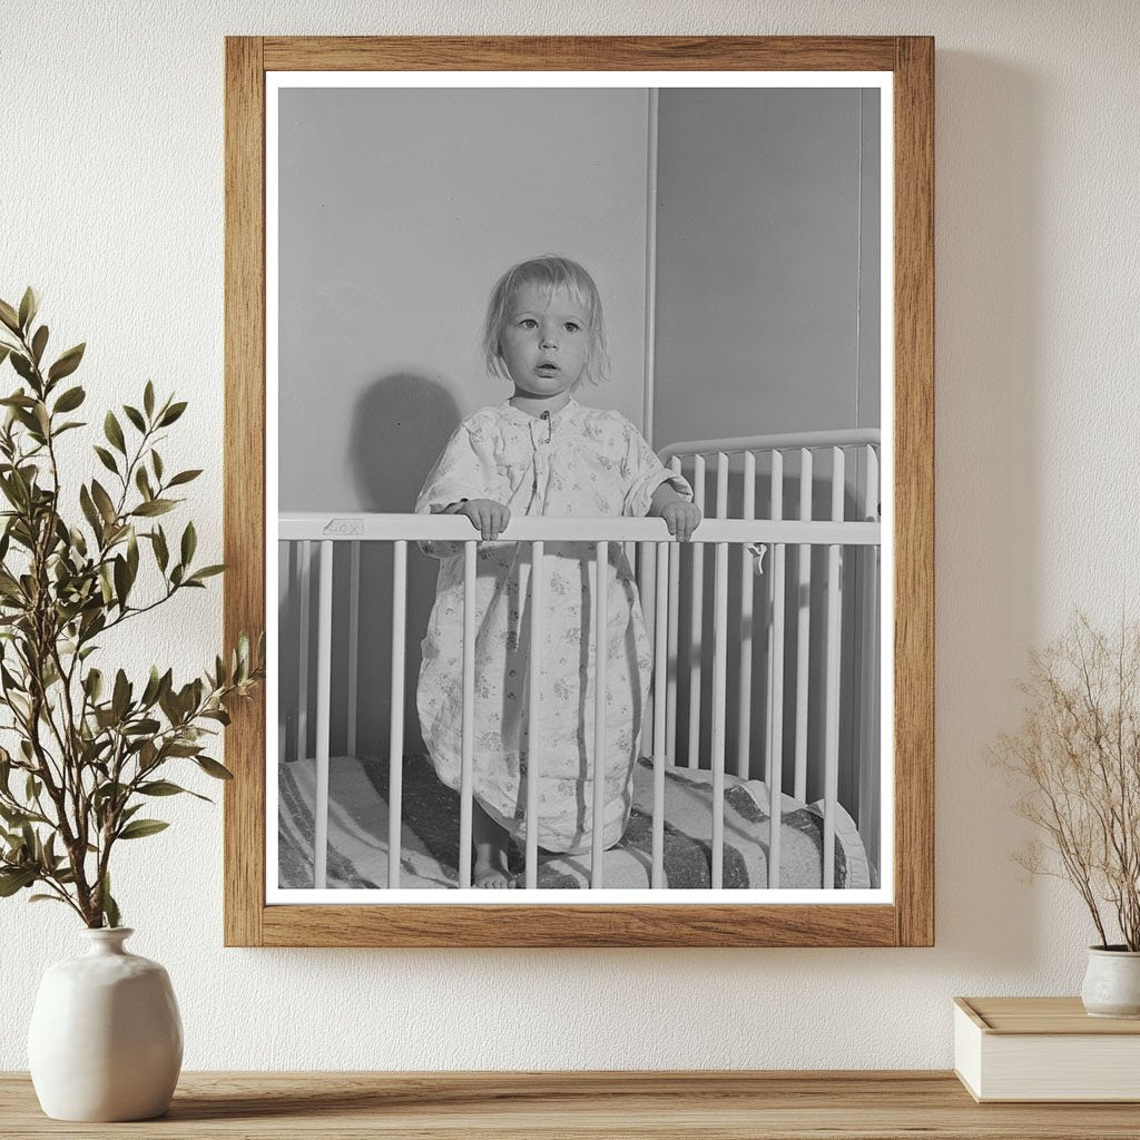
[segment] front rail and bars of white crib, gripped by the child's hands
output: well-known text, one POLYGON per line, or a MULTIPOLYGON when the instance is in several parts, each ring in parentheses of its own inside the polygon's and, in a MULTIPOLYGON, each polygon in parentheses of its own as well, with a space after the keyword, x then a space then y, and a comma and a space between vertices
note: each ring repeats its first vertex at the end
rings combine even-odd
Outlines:
MULTIPOLYGON (((540 604, 543 591, 543 560, 545 556, 546 543, 583 543, 593 546, 593 557, 596 565, 596 581, 598 584, 598 597, 595 612, 598 636, 596 645, 604 645, 603 632, 606 621, 606 575, 602 568, 608 560, 608 545, 610 543, 636 543, 644 548, 651 549, 654 556, 654 589, 653 598, 643 600, 643 612, 646 625, 652 633, 654 675, 652 691, 658 697, 659 691, 667 684, 671 685, 675 673, 675 626, 677 598, 674 592, 671 603, 668 594, 668 584, 674 578, 674 568, 679 564, 681 544, 670 539, 666 524, 660 519, 586 519, 586 518, 551 518, 551 516, 523 516, 511 520, 510 526, 503 531, 502 540, 529 544, 532 560, 531 573, 531 612, 530 634, 532 644, 540 652, 543 644, 543 606, 540 604), (670 642, 670 632, 674 632, 670 642), (670 658, 674 668, 670 669, 670 658), (669 679, 667 679, 669 678, 669 679)), ((317 705, 317 733, 316 733, 316 849, 314 860, 314 886, 323 889, 327 882, 326 872, 326 844, 328 828, 328 768, 331 756, 331 731, 329 709, 332 692, 332 620, 333 620, 333 552, 335 544, 351 544, 353 551, 352 567, 353 585, 359 581, 359 560, 356 552, 360 543, 384 543, 392 547, 392 677, 391 677, 391 700, 392 715, 389 735, 390 757, 390 791, 389 791, 389 887, 398 888, 400 885, 400 834, 401 834, 401 796, 400 782, 404 762, 404 722, 402 708, 407 678, 404 674, 404 656, 406 641, 406 593, 407 593, 407 544, 409 542, 437 542, 456 544, 456 553, 463 557, 464 565, 464 653, 463 653, 463 720, 462 720, 462 775, 461 775, 461 834, 458 852, 458 871, 461 888, 471 886, 471 837, 472 837, 472 805, 473 805, 473 749, 474 749, 474 629, 475 629, 475 568, 477 548, 479 542, 472 534, 471 523, 459 516, 454 515, 408 515, 408 514, 321 514, 321 513, 287 513, 282 514, 278 520, 278 540, 284 544, 295 544, 299 551, 299 584, 302 591, 300 602, 302 625, 300 629, 300 654, 303 667, 300 670, 301 691, 298 694, 299 710, 303 711, 309 703, 309 675, 308 660, 310 654, 309 638, 309 614, 311 612, 308 604, 308 591, 310 588, 308 576, 310 575, 312 545, 316 544, 319 556, 317 559, 317 581, 315 591, 317 594, 317 676, 316 676, 316 705, 317 705)), ((833 560, 838 564, 841 557, 841 548, 845 546, 873 547, 879 543, 879 524, 872 521, 846 522, 838 520, 752 520, 752 519, 706 519, 697 529, 692 539, 695 551, 702 551, 707 546, 715 548, 715 629, 712 646, 712 676, 714 676, 714 724, 711 744, 711 767, 714 788, 714 816, 712 816, 712 844, 710 852, 711 864, 711 887, 719 889, 723 886, 724 865, 724 790, 725 790, 725 715, 726 715, 726 658, 727 658, 727 596, 728 596, 728 554, 730 548, 735 547, 743 552, 743 557, 750 560, 752 565, 763 549, 777 552, 777 564, 782 565, 783 551, 791 544, 800 548, 824 546, 833 552, 833 560)), ((752 591, 755 576, 750 572, 741 580, 741 595, 749 596, 752 591)), ((741 600, 743 606, 743 601, 741 600)), ((350 641, 350 665, 355 665, 355 630, 350 641)), ((829 641, 829 654, 833 652, 832 643, 829 641)), ((837 652, 837 650, 836 650, 837 652)), ((604 684, 605 654, 595 657, 595 801, 594 801, 594 837, 589 858, 591 865, 591 888, 594 890, 604 887, 603 857, 602 857, 602 826, 601 804, 602 784, 604 781, 605 764, 605 698, 606 686, 604 684)), ((838 668, 838 662, 837 662, 838 668)), ((537 670, 535 675, 538 675, 537 670)), ((356 728, 356 706, 358 693, 356 691, 356 669, 349 670, 349 708, 353 710, 351 731, 355 736, 356 728)), ((535 702, 531 701, 528 710, 530 718, 530 740, 537 739, 537 722, 535 716, 535 702)), ((836 715, 838 707, 838 687, 829 684, 828 689, 828 715, 829 723, 832 715, 836 715)), ((665 702, 656 699, 651 710, 646 710, 645 735, 652 736, 652 763, 653 763, 653 791, 654 812, 652 830, 652 877, 651 885, 660 887, 662 882, 663 865, 663 799, 665 799, 665 766, 669 758, 667 751, 668 733, 666 719, 669 710, 665 702)), ((307 731, 307 730, 306 730, 307 731)), ((304 755, 307 749, 306 738, 301 738, 300 755, 304 755)), ((538 803, 535 795, 537 780, 534 779, 540 765, 540 750, 530 748, 528 750, 528 787, 527 787, 527 840, 526 840, 526 878, 528 888, 537 886, 538 874, 538 803)), ((779 885, 779 846, 780 846, 780 784, 779 777, 774 780, 772 788, 772 805, 769 819, 769 886, 779 885)), ((829 803, 833 804, 836 795, 834 777, 829 774, 826 780, 826 796, 829 803)), ((834 844, 834 820, 833 813, 829 809, 824 815, 824 842, 826 849, 833 849, 834 844)), ((824 886, 829 886, 828 868, 824 866, 824 886)))

